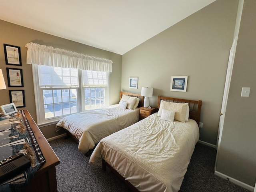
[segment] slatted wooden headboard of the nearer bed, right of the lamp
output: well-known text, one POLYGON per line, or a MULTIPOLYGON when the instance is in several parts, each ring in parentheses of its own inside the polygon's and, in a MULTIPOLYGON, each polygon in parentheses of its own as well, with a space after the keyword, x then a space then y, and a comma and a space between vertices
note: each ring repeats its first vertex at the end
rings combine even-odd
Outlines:
POLYGON ((194 119, 197 124, 199 125, 200 122, 200 115, 201 115, 201 107, 202 101, 201 100, 186 100, 186 99, 178 99, 178 98, 171 98, 171 97, 163 97, 158 96, 157 107, 160 107, 160 101, 164 100, 167 102, 174 102, 174 103, 188 103, 189 106, 189 118, 194 119))

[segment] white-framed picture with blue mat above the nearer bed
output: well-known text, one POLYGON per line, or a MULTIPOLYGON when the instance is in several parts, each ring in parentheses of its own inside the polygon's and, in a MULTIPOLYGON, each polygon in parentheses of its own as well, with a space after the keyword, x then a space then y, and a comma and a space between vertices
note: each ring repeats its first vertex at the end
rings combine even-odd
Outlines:
POLYGON ((170 91, 187 91, 188 76, 172 76, 170 91))

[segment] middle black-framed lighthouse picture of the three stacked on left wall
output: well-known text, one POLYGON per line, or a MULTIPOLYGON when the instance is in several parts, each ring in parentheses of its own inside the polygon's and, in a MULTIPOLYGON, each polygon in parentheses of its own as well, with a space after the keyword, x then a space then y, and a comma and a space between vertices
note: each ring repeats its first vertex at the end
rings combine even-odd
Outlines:
POLYGON ((9 87, 23 87, 22 69, 6 68, 9 87))

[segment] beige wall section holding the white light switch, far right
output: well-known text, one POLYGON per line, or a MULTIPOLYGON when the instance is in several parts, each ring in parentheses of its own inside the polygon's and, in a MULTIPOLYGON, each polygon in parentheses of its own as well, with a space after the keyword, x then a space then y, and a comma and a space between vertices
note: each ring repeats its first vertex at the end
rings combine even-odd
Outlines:
POLYGON ((254 186, 256 181, 256 1, 244 0, 216 171, 254 186), (250 96, 241 97, 242 87, 250 96))

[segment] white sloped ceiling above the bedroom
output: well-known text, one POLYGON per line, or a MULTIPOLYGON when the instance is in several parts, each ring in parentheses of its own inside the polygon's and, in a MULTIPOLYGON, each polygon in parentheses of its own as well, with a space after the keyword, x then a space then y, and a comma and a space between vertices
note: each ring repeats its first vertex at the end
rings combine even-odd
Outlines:
POLYGON ((0 19, 124 54, 215 0, 0 0, 0 19))

